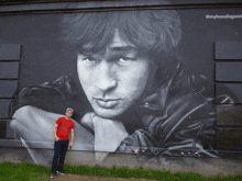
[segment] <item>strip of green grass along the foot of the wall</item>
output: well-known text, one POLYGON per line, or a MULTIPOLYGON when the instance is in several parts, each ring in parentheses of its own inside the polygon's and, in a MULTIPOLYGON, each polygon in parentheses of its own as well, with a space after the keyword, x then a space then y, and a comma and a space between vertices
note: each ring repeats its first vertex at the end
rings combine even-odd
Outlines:
MULTIPOLYGON (((165 170, 145 170, 145 169, 129 169, 129 168, 116 168, 111 169, 95 166, 64 166, 66 173, 98 176, 98 177, 112 177, 112 178, 140 178, 150 180, 162 181, 241 181, 242 176, 235 177, 204 177, 194 172, 177 172, 170 173, 165 170)), ((29 181, 29 180, 50 180, 51 167, 36 166, 28 162, 21 165, 11 162, 0 163, 0 181, 29 181)))

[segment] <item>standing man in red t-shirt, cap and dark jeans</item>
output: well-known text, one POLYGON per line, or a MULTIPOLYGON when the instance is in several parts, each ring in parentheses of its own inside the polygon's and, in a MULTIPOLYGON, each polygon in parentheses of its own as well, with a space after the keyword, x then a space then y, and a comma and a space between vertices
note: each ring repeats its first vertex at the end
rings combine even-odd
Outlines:
POLYGON ((68 108, 65 113, 66 115, 64 117, 59 117, 53 127, 53 132, 55 135, 55 147, 54 147, 55 154, 52 163, 52 174, 51 174, 52 179, 56 177, 56 171, 62 176, 65 174, 63 170, 63 165, 69 144, 69 131, 72 132, 72 142, 69 144, 69 147, 73 147, 73 142, 74 142, 74 122, 70 120, 73 113, 74 113, 73 109, 68 108), (57 167, 57 162, 58 162, 58 167, 57 167))

